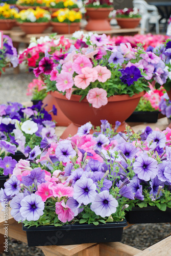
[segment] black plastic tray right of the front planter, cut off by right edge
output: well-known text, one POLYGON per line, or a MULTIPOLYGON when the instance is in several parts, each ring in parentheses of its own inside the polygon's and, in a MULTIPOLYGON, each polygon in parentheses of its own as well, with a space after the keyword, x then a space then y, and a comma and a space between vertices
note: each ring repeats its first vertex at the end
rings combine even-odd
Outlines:
POLYGON ((128 211, 125 218, 130 224, 171 222, 171 208, 162 211, 157 206, 137 206, 128 211))

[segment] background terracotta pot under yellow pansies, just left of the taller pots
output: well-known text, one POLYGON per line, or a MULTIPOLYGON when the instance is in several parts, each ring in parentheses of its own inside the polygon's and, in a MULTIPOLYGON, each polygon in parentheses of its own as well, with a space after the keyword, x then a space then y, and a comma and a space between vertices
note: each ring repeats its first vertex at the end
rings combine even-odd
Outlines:
POLYGON ((75 31, 80 29, 80 23, 60 23, 60 22, 51 22, 53 27, 53 32, 58 34, 73 34, 75 31))

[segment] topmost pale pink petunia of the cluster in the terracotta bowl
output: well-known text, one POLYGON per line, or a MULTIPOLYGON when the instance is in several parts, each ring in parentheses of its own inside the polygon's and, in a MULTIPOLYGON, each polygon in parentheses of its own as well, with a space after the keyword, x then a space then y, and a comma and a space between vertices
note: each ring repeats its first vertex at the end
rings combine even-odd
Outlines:
POLYGON ((91 61, 89 60, 89 58, 81 55, 79 56, 75 61, 74 63, 72 63, 72 68, 74 69, 74 71, 77 73, 77 74, 81 74, 81 70, 83 68, 86 68, 86 67, 89 67, 89 68, 92 68, 92 63, 91 61))

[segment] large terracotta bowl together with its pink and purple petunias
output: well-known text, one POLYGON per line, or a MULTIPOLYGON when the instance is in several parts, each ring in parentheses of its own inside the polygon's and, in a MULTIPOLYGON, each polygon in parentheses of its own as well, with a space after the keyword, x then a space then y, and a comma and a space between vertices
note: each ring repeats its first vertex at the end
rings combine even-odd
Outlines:
MULTIPOLYGON (((150 90, 149 82, 160 77, 155 72, 160 60, 154 53, 144 52, 142 45, 111 46, 105 34, 93 34, 84 41, 77 39, 58 59, 42 59, 34 74, 44 74, 48 63, 47 91, 56 97, 59 107, 72 121, 63 135, 66 138, 76 134, 78 125, 85 122, 100 125, 101 118, 112 125, 119 120, 119 129, 125 130, 124 121, 133 113, 144 91, 150 90)), ((162 79, 160 83, 163 84, 162 79)))

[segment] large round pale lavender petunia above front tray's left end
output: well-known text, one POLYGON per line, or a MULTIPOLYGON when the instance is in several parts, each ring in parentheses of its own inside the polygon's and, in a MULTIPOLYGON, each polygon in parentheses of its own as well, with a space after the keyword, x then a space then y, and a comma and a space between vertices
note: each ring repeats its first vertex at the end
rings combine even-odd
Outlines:
POLYGON ((37 221, 43 215, 44 202, 36 194, 26 196, 21 200, 20 204, 20 214, 28 221, 37 221))

